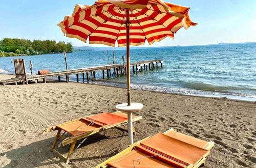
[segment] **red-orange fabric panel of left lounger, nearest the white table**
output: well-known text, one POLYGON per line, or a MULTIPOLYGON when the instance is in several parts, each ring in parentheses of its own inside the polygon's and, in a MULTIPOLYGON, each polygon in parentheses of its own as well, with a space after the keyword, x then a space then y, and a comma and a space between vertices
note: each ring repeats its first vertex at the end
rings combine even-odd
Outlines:
POLYGON ((126 121, 126 118, 114 115, 112 113, 102 113, 94 116, 87 117, 87 119, 102 123, 104 125, 112 125, 126 121))

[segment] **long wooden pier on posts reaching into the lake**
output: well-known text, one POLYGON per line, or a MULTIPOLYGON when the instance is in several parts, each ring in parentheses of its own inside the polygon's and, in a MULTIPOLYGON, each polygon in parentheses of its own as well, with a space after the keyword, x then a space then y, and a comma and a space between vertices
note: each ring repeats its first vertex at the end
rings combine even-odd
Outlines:
MULTIPOLYGON (((147 71, 151 69, 158 68, 159 66, 163 66, 163 60, 151 60, 151 61, 142 61, 137 63, 131 63, 130 64, 133 68, 133 72, 137 73, 139 71, 147 71)), ((23 66, 25 68, 25 65, 23 66)), ((110 76, 121 76, 126 74, 126 64, 116 64, 116 65, 104 65, 104 66, 97 66, 97 67, 89 67, 89 68, 81 68, 81 69, 72 69, 72 70, 65 70, 65 71, 57 71, 57 72, 51 72, 49 74, 45 75, 31 75, 27 76, 26 78, 11 78, 7 80, 0 81, 0 84, 6 85, 8 83, 15 83, 17 85, 18 82, 22 82, 23 84, 28 83, 29 81, 35 80, 37 83, 39 79, 42 79, 43 82, 46 83, 46 79, 49 77, 58 77, 58 81, 60 81, 60 76, 68 76, 72 74, 76 74, 76 81, 79 82, 79 74, 82 74, 82 81, 84 82, 84 77, 86 74, 87 82, 91 80, 94 80, 96 78, 95 71, 102 71, 102 78, 105 78, 105 72, 106 77, 110 76), (114 71, 111 72, 111 69, 114 71)), ((16 72, 16 69, 15 69, 16 72)), ((26 72, 26 71, 25 71, 26 72)), ((20 75, 20 74, 19 74, 20 75)), ((66 81, 69 82, 69 79, 66 78, 66 81)))

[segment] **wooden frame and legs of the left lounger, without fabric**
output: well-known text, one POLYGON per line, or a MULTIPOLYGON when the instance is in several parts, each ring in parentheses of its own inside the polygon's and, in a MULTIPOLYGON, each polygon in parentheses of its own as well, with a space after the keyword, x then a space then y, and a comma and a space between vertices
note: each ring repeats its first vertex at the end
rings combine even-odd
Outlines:
MULTIPOLYGON (((121 111, 116 111, 115 113, 118 113, 118 112, 121 112, 121 111)), ((112 114, 115 114, 115 113, 112 113, 112 114)), ((94 115, 91 115, 91 116, 94 116, 94 115)), ((98 133, 100 131, 103 131, 103 130, 106 130, 106 129, 111 129, 111 128, 118 128, 118 129, 121 129, 121 130, 124 130, 123 128, 120 128, 120 126, 122 125, 126 125, 128 123, 128 121, 124 121, 124 122, 119 122, 119 123, 116 123, 116 124, 112 124, 112 125, 106 125, 106 126, 102 126, 102 127, 99 127, 99 128, 95 128, 94 130, 90 131, 90 132, 86 132, 84 134, 81 134, 81 135, 77 135, 77 136, 70 136, 70 137, 66 137, 64 136, 65 133, 67 133, 66 131, 64 131, 62 134, 61 134, 61 131, 62 129, 58 128, 57 126, 61 126, 61 125, 65 125, 65 124, 68 124, 68 123, 72 123, 74 121, 79 121, 81 120, 82 118, 87 118, 87 117, 91 117, 91 116, 86 116, 86 117, 81 117, 81 118, 78 118, 78 119, 75 119, 75 120, 72 120, 72 121, 68 121, 68 122, 65 122, 65 123, 62 123, 62 124, 59 124, 59 125, 56 125, 56 126, 52 126, 52 127, 48 127, 47 129, 45 129, 42 134, 44 133, 47 133, 51 130, 58 130, 57 134, 56 134, 56 137, 54 139, 54 142, 53 142, 53 145, 52 145, 52 148, 51 148, 51 151, 56 153, 60 158, 64 159, 66 161, 66 164, 69 163, 69 160, 70 160, 70 155, 73 153, 74 151, 74 148, 75 148, 75 145, 76 145, 76 142, 79 140, 79 139, 82 139, 82 138, 87 138, 88 136, 92 135, 92 134, 95 134, 95 133, 98 133), (67 156, 64 156, 62 154, 60 154, 56 149, 56 144, 58 143, 59 139, 63 139, 63 141, 58 145, 58 147, 63 147, 65 145, 68 145, 68 144, 71 144, 70 145, 70 150, 69 150, 69 153, 67 156)), ((138 120, 141 120, 142 119, 142 116, 138 116, 138 117, 135 117, 133 118, 133 122, 134 121, 138 121, 138 120)), ((126 130, 125 130, 126 131, 126 130)), ((133 132, 136 134, 136 131, 135 131, 135 128, 133 127, 133 132)))

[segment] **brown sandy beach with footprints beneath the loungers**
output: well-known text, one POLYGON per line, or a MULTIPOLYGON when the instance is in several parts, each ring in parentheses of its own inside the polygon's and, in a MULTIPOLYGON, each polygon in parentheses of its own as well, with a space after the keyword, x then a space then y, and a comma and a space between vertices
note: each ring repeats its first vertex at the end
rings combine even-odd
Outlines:
MULTIPOLYGON (((10 75, 0 75, 0 80, 10 75)), ((50 152, 56 132, 48 126, 102 111, 126 101, 122 88, 76 82, 0 86, 0 167, 93 167, 125 149, 127 132, 111 129, 90 136, 65 164, 50 152)), ((132 90, 144 104, 135 115, 134 141, 174 128, 216 145, 205 167, 255 167, 256 103, 132 90)), ((68 148, 62 148, 67 153, 68 148)))

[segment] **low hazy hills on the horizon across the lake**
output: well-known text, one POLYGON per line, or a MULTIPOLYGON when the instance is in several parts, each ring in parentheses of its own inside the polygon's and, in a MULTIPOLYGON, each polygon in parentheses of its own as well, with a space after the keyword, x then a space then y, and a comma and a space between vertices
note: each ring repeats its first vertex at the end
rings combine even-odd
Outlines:
MULTIPOLYGON (((230 45, 230 44, 253 44, 256 42, 247 42, 247 43, 218 43, 218 44, 207 44, 207 45, 190 45, 190 46, 211 46, 211 45, 230 45)), ((150 47, 150 48, 166 48, 166 47, 187 47, 187 46, 161 46, 161 47, 150 47)), ((130 49, 144 49, 148 47, 130 47, 130 49)), ((126 47, 114 47, 114 50, 123 50, 126 47)), ((73 47, 73 50, 84 50, 84 51, 100 51, 100 50, 112 50, 112 47, 90 47, 90 46, 82 46, 82 47, 73 47)))

